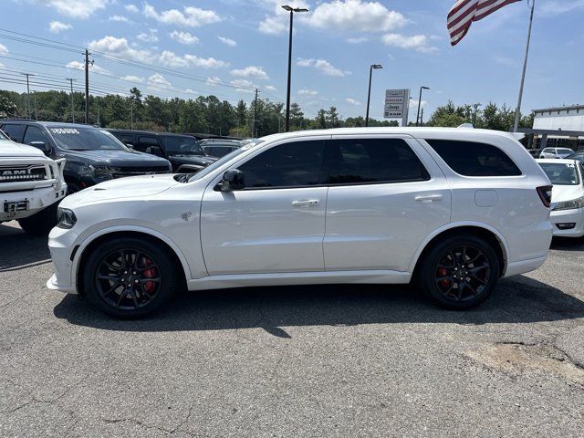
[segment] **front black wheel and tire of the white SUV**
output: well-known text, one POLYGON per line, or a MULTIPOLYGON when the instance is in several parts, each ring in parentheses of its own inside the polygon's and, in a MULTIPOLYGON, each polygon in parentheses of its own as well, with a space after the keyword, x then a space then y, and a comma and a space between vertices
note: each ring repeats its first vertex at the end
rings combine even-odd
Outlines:
POLYGON ((169 251, 136 237, 98 245, 82 273, 89 302, 115 318, 150 315, 162 308, 181 284, 181 273, 169 251))

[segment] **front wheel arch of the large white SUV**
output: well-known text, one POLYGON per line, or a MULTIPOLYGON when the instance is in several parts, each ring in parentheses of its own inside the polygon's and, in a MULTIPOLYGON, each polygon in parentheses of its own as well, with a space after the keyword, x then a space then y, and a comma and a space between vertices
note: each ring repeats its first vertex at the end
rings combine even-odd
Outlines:
POLYGON ((83 241, 81 245, 78 246, 73 260, 72 274, 73 278, 75 279, 79 295, 85 295, 85 291, 83 290, 83 281, 81 281, 81 275, 83 272, 83 266, 85 266, 85 263, 87 262, 90 250, 103 242, 115 239, 117 237, 139 237, 150 240, 151 242, 154 242, 158 245, 162 245, 162 247, 168 251, 169 255, 174 258, 175 262, 182 267, 181 272, 183 273, 183 277, 180 278, 180 280, 182 280, 183 286, 186 286, 187 281, 191 278, 191 269, 181 249, 170 238, 154 230, 142 229, 141 227, 115 227, 107 228, 99 231, 98 233, 90 235, 87 239, 85 239, 85 241, 83 241))

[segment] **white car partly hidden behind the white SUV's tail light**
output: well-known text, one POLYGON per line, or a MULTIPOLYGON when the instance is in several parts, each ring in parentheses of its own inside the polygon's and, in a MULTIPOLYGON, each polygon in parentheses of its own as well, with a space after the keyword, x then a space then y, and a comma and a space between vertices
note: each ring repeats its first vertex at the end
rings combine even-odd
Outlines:
POLYGON ((578 160, 537 160, 554 184, 551 193, 553 210, 549 221, 554 235, 584 235, 584 169, 578 160))

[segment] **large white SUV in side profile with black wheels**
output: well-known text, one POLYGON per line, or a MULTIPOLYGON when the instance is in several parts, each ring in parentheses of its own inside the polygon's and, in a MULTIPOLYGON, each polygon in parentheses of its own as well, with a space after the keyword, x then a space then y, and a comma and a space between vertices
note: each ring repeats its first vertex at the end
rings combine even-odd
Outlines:
POLYGON ((470 308, 541 266, 551 186, 510 134, 339 129, 259 139, 196 174, 69 196, 47 287, 117 317, 178 287, 415 282, 470 308))

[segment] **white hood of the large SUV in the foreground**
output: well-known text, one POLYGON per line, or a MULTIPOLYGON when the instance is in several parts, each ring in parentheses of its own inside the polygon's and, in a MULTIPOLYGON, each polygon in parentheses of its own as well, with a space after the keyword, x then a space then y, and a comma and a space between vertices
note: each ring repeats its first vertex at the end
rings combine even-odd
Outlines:
POLYGON ((168 190, 173 185, 180 184, 174 180, 173 176, 172 174, 143 175, 110 180, 69 195, 63 201, 63 206, 70 207, 79 203, 152 196, 168 190))

